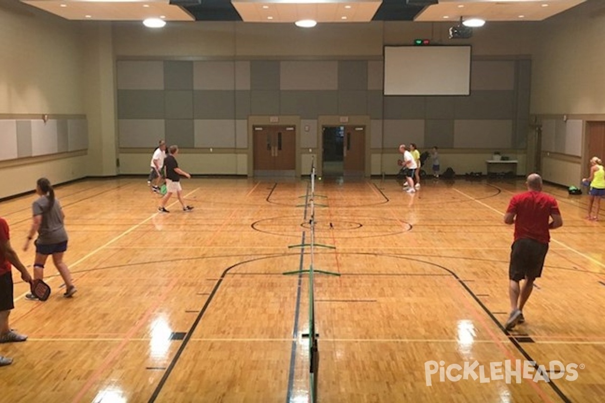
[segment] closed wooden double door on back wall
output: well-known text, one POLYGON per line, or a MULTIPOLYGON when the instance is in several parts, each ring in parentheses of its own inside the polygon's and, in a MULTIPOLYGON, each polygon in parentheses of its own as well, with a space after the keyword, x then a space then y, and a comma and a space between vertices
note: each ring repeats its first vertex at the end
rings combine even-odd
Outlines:
POLYGON ((252 126, 254 176, 295 176, 296 126, 252 126))

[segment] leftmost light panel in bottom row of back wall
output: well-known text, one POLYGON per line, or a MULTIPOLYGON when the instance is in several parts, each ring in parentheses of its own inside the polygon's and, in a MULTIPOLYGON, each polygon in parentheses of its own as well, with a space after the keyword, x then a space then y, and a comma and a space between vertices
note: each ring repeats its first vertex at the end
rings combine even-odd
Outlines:
MULTIPOLYGON (((163 119, 120 119, 118 121, 120 147, 157 147, 157 142, 166 138, 163 119)), ((149 154, 151 161, 151 154, 149 154)))

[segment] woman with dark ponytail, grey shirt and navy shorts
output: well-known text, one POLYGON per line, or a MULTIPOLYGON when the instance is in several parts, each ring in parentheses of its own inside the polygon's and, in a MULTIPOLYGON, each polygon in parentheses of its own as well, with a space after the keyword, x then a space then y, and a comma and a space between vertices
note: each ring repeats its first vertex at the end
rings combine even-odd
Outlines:
MULTIPOLYGON (((67 250, 67 231, 63 224, 65 214, 57 199, 54 198, 53 186, 47 178, 40 178, 36 182, 36 193, 40 196, 33 202, 33 222, 27 235, 23 250, 26 251, 34 235, 38 233, 36 245, 36 259, 34 261, 34 279, 44 279, 44 265, 48 255, 53 256, 54 266, 65 282, 64 297, 71 297, 76 292, 76 286, 71 281, 71 273, 63 262, 63 254, 67 250)), ((35 295, 27 294, 28 300, 37 300, 35 295)))

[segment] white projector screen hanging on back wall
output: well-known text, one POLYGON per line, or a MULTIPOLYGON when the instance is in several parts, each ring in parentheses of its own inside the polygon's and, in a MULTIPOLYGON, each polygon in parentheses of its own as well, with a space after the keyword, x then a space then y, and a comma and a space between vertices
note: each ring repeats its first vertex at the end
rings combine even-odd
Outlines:
POLYGON ((384 47, 384 95, 470 94, 470 46, 384 47))

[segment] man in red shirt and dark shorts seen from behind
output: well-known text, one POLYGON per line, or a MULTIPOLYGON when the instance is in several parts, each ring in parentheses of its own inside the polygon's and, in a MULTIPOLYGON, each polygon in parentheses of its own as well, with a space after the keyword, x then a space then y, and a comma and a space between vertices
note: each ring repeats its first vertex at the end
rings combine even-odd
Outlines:
POLYGON ((511 280, 511 315, 506 321, 506 330, 511 330, 517 323, 525 321, 523 306, 534 289, 534 280, 542 274, 548 243, 551 240, 549 230, 563 225, 557 200, 542 193, 540 175, 528 175, 526 185, 528 191, 512 196, 504 214, 505 224, 515 224, 508 269, 508 277, 511 280), (523 279, 525 282, 519 288, 519 282, 523 279))

